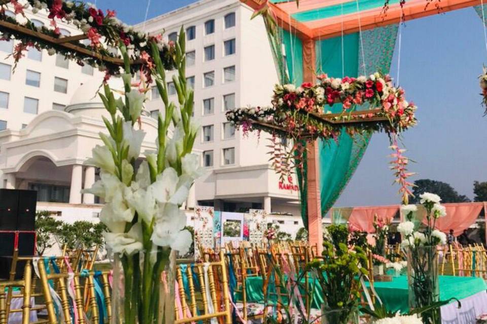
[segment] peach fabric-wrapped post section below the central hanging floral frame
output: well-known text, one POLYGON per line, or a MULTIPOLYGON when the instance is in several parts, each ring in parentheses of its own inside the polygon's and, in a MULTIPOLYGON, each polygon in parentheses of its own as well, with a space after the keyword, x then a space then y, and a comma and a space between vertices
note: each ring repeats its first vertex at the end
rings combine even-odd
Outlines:
POLYGON ((318 254, 323 251, 323 228, 321 221, 320 168, 318 142, 310 142, 307 149, 307 181, 308 181, 308 240, 309 244, 317 245, 318 254))

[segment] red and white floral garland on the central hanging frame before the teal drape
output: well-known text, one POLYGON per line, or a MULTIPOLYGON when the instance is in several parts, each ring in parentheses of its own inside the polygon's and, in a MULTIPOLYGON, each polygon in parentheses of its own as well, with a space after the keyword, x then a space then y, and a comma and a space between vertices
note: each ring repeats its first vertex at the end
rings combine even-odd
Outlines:
MULTIPOLYGON (((416 124, 416 106, 405 100, 404 90, 394 87, 389 75, 376 72, 368 77, 333 78, 322 74, 317 78, 319 82, 316 85, 276 85, 272 106, 237 108, 227 111, 226 117, 235 127, 240 127, 244 135, 254 130, 265 130, 292 139, 294 145, 286 150, 287 161, 300 160, 304 151, 303 140, 336 140, 343 130, 343 123, 353 120, 356 122, 345 127, 346 133, 352 136, 372 131, 396 134, 416 124), (340 114, 324 111, 325 105, 334 103, 343 105, 340 114), (377 107, 380 111, 352 113, 357 105, 363 104, 377 107), (385 117, 387 120, 371 123, 374 121, 372 117, 385 117)), ((280 158, 282 154, 279 152, 280 158)))

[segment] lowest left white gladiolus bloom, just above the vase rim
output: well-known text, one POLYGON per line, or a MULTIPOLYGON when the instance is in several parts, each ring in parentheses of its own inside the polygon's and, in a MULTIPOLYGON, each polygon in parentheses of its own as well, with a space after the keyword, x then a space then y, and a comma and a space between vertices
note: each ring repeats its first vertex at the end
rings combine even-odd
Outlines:
POLYGON ((136 223, 127 233, 103 233, 113 253, 131 255, 142 250, 142 225, 136 223))

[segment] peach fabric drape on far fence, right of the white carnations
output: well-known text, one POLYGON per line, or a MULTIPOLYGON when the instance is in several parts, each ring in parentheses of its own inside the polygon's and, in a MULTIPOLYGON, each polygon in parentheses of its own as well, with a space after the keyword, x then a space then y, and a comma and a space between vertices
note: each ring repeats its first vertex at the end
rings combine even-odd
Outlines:
MULTIPOLYGON (((446 216, 436 221, 435 227, 444 233, 453 229, 455 236, 475 223, 484 203, 458 203, 442 204, 446 208, 446 216)), ((426 211, 422 208, 418 210, 423 223, 426 224, 426 211)))

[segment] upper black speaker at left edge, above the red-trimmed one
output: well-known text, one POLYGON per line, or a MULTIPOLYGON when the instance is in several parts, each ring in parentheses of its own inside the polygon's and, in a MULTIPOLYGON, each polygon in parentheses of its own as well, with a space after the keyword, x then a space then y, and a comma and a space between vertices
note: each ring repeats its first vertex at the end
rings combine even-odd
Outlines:
POLYGON ((0 189, 0 230, 36 229, 37 191, 0 189))

